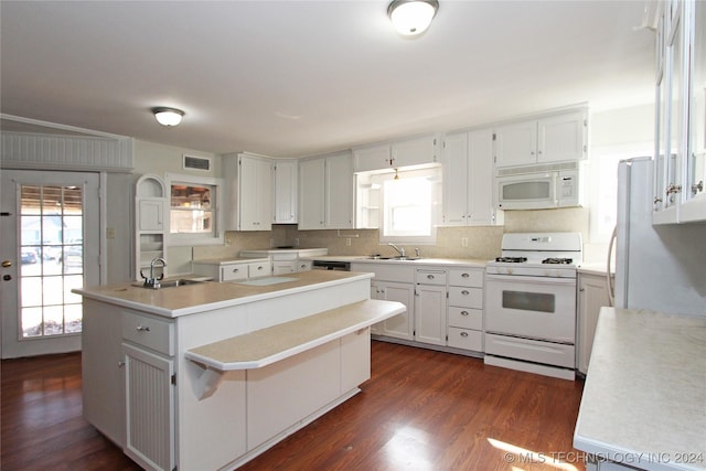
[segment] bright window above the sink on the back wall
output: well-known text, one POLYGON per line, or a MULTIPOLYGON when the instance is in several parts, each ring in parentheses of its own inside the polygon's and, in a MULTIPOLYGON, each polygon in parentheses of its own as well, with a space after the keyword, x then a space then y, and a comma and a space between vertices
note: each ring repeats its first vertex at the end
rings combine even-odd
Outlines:
POLYGON ((437 207, 440 203, 439 169, 379 175, 382 243, 436 243, 437 207))

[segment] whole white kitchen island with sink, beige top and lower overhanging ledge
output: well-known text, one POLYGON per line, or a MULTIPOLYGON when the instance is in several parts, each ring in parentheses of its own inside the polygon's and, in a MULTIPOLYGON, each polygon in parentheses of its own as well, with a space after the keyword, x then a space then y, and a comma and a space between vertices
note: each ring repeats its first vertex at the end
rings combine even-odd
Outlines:
POLYGON ((82 288, 84 416, 146 469, 233 469, 355 395, 370 274, 82 288))

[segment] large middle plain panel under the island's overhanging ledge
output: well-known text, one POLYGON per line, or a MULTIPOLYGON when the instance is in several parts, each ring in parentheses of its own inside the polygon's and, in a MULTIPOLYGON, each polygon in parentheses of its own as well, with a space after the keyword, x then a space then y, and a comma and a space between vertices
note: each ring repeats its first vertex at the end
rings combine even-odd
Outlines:
POLYGON ((340 396, 339 342, 247 371, 247 447, 287 431, 340 396))

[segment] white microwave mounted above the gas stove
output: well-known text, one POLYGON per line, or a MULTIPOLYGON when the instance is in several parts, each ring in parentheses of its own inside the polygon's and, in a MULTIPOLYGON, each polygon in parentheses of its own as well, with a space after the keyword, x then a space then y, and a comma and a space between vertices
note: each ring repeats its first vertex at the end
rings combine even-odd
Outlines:
POLYGON ((498 207, 548 210, 579 206, 578 165, 547 170, 548 167, 499 170, 495 176, 498 207))

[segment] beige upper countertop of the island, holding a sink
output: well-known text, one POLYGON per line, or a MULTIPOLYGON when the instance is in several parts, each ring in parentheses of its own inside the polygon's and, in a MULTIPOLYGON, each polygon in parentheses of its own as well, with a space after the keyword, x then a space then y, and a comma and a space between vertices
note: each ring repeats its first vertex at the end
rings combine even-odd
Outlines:
POLYGON ((312 270, 288 275, 287 278, 291 278, 291 281, 288 282, 264 286, 254 286, 252 282, 253 280, 274 277, 252 278, 243 281, 206 281, 178 288, 160 289, 141 288, 132 283, 120 283, 77 288, 72 291, 98 301, 168 318, 176 318, 179 315, 228 308, 372 277, 373 274, 312 270))

